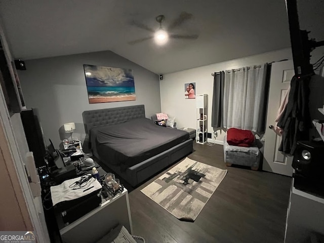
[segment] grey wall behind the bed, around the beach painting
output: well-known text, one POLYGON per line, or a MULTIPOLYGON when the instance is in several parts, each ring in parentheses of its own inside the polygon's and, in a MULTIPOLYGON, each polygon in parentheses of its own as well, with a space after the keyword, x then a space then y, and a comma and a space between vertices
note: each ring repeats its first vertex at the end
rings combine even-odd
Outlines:
POLYGON ((19 71, 27 108, 37 108, 46 142, 59 147, 65 134, 64 123, 74 122, 73 138, 84 140, 82 112, 85 110, 145 105, 145 115, 160 112, 158 75, 117 54, 105 51, 25 61, 19 71), (89 104, 84 64, 133 69, 135 101, 89 104))

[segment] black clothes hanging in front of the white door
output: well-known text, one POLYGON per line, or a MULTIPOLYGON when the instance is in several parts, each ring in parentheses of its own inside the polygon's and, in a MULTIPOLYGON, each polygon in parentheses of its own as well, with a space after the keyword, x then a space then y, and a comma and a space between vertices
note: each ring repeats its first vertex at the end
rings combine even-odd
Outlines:
POLYGON ((292 78, 288 103, 277 124, 284 129, 279 151, 293 155, 297 141, 308 140, 311 128, 308 108, 310 78, 296 75, 292 78))

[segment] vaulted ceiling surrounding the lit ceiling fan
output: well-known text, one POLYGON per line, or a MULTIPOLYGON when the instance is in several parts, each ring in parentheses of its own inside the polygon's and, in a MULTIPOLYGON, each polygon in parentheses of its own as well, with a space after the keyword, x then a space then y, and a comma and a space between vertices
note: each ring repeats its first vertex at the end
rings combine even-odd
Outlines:
POLYGON ((0 15, 14 58, 25 60, 111 50, 170 73, 290 47, 284 0, 1 0, 0 15), (193 17, 170 33, 198 38, 129 44, 152 35, 138 25, 158 29, 162 14, 168 30, 182 12, 193 17))

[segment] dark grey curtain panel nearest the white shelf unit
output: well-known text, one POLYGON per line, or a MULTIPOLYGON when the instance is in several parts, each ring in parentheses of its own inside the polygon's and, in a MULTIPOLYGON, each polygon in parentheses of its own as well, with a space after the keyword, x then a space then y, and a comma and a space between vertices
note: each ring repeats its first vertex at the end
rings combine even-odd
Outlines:
POLYGON ((214 131, 223 129, 224 71, 214 73, 212 102, 212 127, 214 131))

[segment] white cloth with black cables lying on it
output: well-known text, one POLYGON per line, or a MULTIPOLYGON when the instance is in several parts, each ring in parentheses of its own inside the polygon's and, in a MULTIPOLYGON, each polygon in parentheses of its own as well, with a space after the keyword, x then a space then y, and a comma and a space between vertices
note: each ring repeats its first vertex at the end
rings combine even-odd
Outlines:
POLYGON ((55 206, 58 203, 61 203, 62 201, 68 201, 79 197, 83 197, 85 195, 90 194, 93 191, 102 188, 99 181, 93 177, 88 181, 86 187, 73 186, 75 185, 76 181, 80 180, 80 178, 81 177, 73 178, 64 181, 60 185, 51 186, 51 196, 52 196, 53 206, 55 206))

